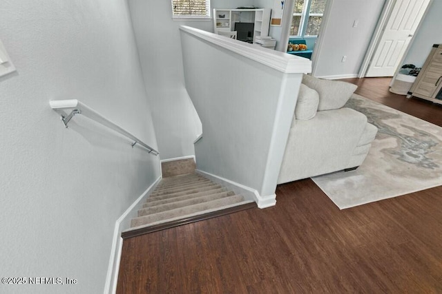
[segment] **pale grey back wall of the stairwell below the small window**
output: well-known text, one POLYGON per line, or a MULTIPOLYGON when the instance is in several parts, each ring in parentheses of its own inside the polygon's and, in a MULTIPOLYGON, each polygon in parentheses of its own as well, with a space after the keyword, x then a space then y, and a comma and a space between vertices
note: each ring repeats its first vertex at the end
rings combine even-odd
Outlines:
MULTIPOLYGON (((202 126, 184 87, 178 28, 189 25, 213 32, 213 21, 173 20, 169 0, 128 3, 162 159, 193 155, 193 141, 201 134, 202 126)), ((211 1, 212 9, 251 5, 256 5, 255 1, 211 1)), ((217 76, 214 69, 207 74, 217 76)))

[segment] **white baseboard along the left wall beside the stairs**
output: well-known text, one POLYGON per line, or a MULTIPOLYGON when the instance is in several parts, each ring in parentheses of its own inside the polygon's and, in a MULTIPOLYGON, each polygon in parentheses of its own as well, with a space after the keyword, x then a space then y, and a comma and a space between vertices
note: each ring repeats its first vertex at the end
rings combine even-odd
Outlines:
POLYGON ((125 224, 129 223, 132 218, 134 218, 137 214, 138 204, 144 202, 148 196, 151 195, 155 187, 157 187, 158 183, 162 177, 158 177, 153 184, 142 193, 140 197, 131 204, 131 206, 124 211, 122 216, 118 218, 115 222, 115 228, 113 230, 113 242, 111 249, 111 258, 109 259, 108 273, 106 276, 106 284, 104 286, 104 294, 112 294, 117 291, 117 280, 118 280, 118 270, 119 270, 119 260, 122 255, 122 247, 123 247, 123 238, 121 237, 122 231, 125 228, 125 224))

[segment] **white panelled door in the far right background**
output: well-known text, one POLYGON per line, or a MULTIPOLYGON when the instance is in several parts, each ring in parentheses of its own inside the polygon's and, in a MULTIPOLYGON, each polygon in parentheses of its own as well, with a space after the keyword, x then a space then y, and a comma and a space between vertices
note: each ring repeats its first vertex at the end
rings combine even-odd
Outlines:
POLYGON ((396 0, 365 76, 394 76, 430 0, 396 0))

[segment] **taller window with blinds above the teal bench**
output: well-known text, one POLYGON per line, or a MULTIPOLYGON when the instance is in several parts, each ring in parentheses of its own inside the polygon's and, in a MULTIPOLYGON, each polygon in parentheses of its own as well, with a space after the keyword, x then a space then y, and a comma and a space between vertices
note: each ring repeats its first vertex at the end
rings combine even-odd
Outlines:
POLYGON ((327 0, 295 0, 290 36, 318 36, 327 0))

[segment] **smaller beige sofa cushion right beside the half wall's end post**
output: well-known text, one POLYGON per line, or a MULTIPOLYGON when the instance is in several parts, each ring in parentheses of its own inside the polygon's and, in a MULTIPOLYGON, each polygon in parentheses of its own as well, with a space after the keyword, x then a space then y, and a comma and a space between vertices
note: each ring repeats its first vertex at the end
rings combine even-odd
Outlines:
POLYGON ((319 94, 304 84, 300 85, 298 101, 296 102, 295 118, 309 120, 316 116, 318 110, 319 94))

